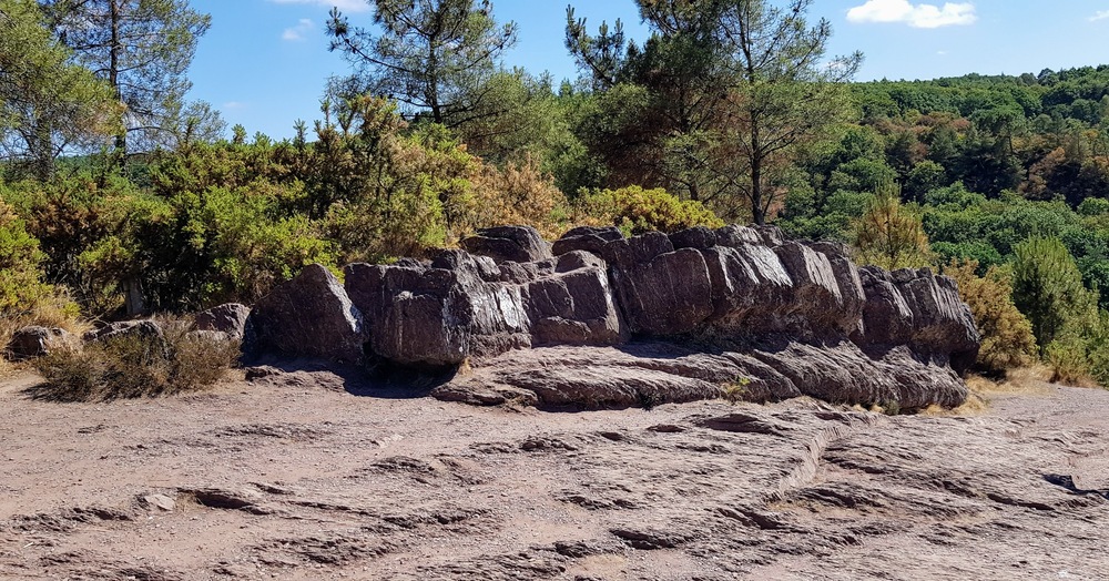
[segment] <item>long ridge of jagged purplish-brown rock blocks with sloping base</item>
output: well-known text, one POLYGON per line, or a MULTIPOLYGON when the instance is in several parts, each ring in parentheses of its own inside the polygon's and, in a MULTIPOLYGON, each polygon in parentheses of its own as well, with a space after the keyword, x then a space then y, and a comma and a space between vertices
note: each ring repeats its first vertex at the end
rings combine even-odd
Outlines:
POLYGON ((458 366, 444 399, 631 406, 810 395, 954 406, 979 337, 929 269, 857 268, 846 248, 772 227, 625 238, 574 228, 548 245, 498 227, 430 263, 311 266, 247 320, 248 356, 458 366))

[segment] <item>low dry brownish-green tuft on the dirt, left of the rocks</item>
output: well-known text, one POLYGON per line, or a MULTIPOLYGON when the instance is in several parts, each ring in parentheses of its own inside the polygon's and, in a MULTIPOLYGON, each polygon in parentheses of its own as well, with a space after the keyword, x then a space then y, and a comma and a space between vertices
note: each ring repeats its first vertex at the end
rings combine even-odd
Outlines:
POLYGON ((38 359, 45 381, 31 397, 105 401, 195 391, 218 381, 238 358, 238 342, 191 334, 184 319, 161 325, 163 337, 123 335, 38 359))

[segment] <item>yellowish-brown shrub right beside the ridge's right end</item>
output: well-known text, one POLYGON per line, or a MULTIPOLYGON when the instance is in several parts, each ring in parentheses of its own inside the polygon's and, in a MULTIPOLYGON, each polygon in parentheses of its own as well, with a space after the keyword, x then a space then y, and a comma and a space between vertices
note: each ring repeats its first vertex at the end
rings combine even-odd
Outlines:
POLYGON ((944 269, 959 286, 959 296, 970 306, 981 349, 977 367, 986 373, 1003 374, 1031 364, 1036 358, 1032 326, 1013 304, 1010 275, 990 267, 985 276, 976 274, 976 261, 952 261, 944 269))

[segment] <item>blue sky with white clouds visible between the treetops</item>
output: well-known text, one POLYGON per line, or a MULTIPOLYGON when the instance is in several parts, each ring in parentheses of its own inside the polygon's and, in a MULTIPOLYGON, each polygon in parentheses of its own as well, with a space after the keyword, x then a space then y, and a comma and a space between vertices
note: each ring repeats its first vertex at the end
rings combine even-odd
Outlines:
MULTIPOLYGON (((772 0, 773 1, 773 0, 772 0)), ((319 118, 328 77, 348 72, 327 51, 327 12, 338 6, 368 26, 366 0, 192 0, 212 14, 190 69, 191 99, 218 109, 228 125, 288 137, 297 119, 319 118)), ((498 20, 513 20, 519 41, 509 67, 577 77, 563 45, 566 6, 591 29, 620 18, 628 34, 645 37, 633 0, 494 0, 498 20)), ((830 52, 865 54, 858 80, 933 79, 1109 63, 1109 0, 817 0, 810 20, 826 18, 830 52)))

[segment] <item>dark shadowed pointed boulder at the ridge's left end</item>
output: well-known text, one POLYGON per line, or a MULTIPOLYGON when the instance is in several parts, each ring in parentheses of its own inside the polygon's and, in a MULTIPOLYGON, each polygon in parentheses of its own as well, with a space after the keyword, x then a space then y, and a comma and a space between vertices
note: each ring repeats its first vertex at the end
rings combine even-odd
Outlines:
POLYGON ((305 266, 263 297, 246 319, 244 351, 355 364, 363 358, 362 313, 326 267, 305 266))

